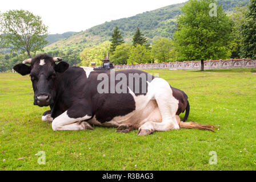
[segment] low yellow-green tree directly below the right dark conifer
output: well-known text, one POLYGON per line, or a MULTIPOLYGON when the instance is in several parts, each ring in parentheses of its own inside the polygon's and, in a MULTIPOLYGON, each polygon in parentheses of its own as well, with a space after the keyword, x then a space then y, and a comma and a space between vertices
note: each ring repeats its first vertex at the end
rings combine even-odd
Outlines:
POLYGON ((127 60, 127 64, 145 64, 151 62, 151 54, 150 51, 146 48, 145 45, 137 44, 137 46, 133 46, 130 49, 130 56, 127 60))

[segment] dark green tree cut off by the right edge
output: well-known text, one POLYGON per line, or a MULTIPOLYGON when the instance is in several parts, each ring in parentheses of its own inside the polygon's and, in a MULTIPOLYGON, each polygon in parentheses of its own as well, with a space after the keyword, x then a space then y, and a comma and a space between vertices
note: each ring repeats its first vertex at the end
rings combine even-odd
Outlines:
POLYGON ((249 11, 242 24, 241 56, 256 58, 256 0, 250 0, 249 11))

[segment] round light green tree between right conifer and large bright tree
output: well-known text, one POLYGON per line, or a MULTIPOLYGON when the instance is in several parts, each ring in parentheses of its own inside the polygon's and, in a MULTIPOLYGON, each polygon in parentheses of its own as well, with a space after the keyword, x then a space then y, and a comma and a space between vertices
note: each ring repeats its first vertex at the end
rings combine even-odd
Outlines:
POLYGON ((161 38, 154 41, 152 54, 158 63, 170 61, 172 57, 173 41, 167 38, 161 38))

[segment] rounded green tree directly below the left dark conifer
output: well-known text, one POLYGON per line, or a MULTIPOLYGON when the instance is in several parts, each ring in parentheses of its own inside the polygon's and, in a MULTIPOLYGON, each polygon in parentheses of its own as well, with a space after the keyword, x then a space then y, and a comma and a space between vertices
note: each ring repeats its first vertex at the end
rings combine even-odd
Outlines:
POLYGON ((111 55, 110 59, 115 64, 127 64, 127 60, 130 56, 131 45, 124 43, 115 48, 113 55, 111 55))

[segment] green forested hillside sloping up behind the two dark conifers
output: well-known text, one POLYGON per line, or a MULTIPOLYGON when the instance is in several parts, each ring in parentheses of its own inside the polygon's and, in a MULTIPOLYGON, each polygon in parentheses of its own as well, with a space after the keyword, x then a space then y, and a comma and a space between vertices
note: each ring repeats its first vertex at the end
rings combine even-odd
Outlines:
MULTIPOLYGON (((247 5, 249 0, 219 0, 226 12, 233 11, 233 8, 241 3, 247 5)), ((149 43, 159 36, 172 38, 176 28, 177 17, 181 13, 181 7, 184 3, 162 7, 153 11, 105 22, 98 26, 89 28, 86 31, 78 32, 70 38, 62 39, 58 42, 50 44, 46 47, 49 49, 77 49, 82 51, 85 47, 90 47, 101 43, 105 40, 110 40, 114 27, 118 26, 121 34, 126 42, 130 42, 137 27, 140 28, 144 36, 147 37, 149 43)))

